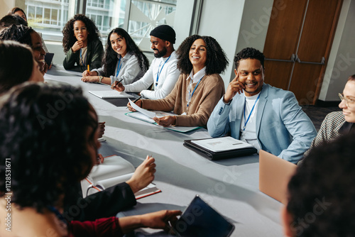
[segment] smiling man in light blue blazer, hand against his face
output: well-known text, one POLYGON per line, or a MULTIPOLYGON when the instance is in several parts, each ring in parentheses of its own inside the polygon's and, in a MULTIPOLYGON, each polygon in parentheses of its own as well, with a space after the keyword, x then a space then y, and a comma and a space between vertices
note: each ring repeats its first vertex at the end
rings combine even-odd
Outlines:
POLYGON ((290 162, 297 162, 317 135, 292 92, 264 83, 265 56, 241 50, 236 77, 214 108, 207 129, 212 137, 230 135, 290 162))

